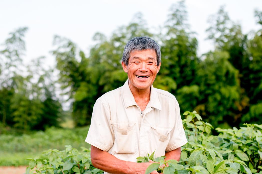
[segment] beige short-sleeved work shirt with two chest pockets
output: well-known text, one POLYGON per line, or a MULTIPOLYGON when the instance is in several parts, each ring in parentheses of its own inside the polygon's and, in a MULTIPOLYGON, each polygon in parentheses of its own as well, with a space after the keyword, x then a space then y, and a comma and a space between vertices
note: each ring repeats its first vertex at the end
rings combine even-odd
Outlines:
POLYGON ((176 98, 151 85, 150 100, 142 112, 128 81, 96 100, 85 141, 133 162, 154 151, 155 157, 165 155, 187 143, 176 98))

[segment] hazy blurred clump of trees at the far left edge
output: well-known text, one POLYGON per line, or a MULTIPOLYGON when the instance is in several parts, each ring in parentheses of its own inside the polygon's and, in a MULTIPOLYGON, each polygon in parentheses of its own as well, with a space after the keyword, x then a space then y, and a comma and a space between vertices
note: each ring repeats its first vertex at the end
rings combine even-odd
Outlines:
POLYGON ((42 67, 44 57, 33 60, 28 66, 23 65, 26 30, 19 28, 10 33, 6 48, 0 51, 0 119, 4 126, 24 132, 58 126, 62 112, 55 97, 53 69, 42 67))

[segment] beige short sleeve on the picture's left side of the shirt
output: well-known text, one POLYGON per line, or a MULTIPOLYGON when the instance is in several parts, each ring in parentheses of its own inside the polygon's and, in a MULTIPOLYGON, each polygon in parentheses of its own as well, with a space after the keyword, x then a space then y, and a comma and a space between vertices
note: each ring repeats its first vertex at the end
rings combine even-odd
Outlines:
POLYGON ((108 151, 113 146, 113 141, 114 133, 110 121, 110 111, 100 99, 97 99, 85 142, 103 151, 108 151))

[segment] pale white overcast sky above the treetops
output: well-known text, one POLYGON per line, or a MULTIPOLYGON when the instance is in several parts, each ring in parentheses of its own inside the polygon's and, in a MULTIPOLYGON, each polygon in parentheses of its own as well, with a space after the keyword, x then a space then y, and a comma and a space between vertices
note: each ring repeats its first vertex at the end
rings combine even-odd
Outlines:
MULTIPOLYGON (((0 43, 8 33, 19 27, 28 27, 25 35, 28 63, 32 58, 46 56, 49 65, 54 65, 50 54, 55 34, 67 37, 76 43, 84 52, 92 43, 92 36, 101 32, 110 37, 119 26, 127 25, 137 12, 144 15, 149 28, 163 26, 167 20, 168 10, 177 1, 162 0, 1 0, 0 1, 0 43)), ((198 55, 212 48, 205 30, 209 27, 207 19, 225 5, 231 20, 241 24, 243 32, 259 29, 254 18, 254 9, 262 10, 261 0, 186 0, 188 23, 191 31, 197 33, 199 41, 198 55)))

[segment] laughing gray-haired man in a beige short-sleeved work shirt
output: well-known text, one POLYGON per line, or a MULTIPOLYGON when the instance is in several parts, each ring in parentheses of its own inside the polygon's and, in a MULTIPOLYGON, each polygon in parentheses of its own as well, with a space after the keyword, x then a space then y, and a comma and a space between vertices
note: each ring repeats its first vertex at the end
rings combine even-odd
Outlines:
POLYGON ((105 173, 145 173, 152 161, 136 163, 136 158, 154 151, 155 157, 179 161, 187 139, 178 102, 152 86, 161 66, 159 45, 148 37, 131 39, 122 66, 128 80, 94 105, 85 140, 91 144, 92 164, 105 173))

